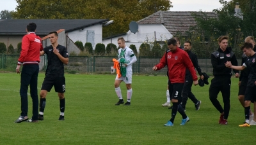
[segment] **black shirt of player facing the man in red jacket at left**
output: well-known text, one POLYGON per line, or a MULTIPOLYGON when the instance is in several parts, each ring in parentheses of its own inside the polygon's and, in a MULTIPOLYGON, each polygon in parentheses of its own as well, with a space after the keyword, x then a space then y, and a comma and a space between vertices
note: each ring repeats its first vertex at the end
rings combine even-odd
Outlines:
MULTIPOLYGON (((67 49, 65 46, 58 45, 56 47, 62 57, 68 58, 67 49)), ((45 71, 45 76, 56 78, 64 76, 64 65, 63 62, 58 58, 53 52, 53 47, 47 46, 44 48, 44 53, 47 55, 47 69, 45 71)))

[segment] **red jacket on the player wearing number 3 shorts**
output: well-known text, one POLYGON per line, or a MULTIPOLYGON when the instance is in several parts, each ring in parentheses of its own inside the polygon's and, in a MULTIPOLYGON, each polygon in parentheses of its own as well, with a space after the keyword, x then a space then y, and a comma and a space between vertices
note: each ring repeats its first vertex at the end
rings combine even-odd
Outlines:
POLYGON ((189 59, 188 53, 177 48, 175 52, 167 51, 164 53, 159 64, 156 65, 157 70, 168 65, 168 76, 171 83, 184 83, 186 75, 186 67, 192 74, 193 80, 197 80, 195 68, 189 59))

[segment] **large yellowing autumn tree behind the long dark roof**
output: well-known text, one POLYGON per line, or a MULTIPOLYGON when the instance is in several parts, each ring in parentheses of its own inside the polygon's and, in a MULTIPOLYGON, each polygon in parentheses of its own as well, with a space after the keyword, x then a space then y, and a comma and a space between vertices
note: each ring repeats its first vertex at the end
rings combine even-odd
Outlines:
POLYGON ((17 8, 13 18, 48 19, 105 19, 114 24, 104 27, 103 37, 129 30, 131 21, 138 21, 159 10, 169 10, 170 0, 16 0, 17 8))

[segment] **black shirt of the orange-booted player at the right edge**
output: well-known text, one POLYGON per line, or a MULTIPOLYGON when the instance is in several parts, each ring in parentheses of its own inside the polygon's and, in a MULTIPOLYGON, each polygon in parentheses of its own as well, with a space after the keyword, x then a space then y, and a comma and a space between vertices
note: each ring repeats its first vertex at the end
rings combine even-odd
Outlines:
POLYGON ((255 86, 256 81, 256 53, 252 57, 248 57, 248 60, 244 62, 247 69, 249 70, 247 86, 255 86))

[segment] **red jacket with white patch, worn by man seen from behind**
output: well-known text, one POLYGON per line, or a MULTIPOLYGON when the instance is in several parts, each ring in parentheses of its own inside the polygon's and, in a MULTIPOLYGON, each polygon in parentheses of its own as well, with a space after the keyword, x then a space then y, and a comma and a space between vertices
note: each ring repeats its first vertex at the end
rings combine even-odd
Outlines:
POLYGON ((30 32, 22 38, 21 52, 18 64, 35 64, 40 62, 40 51, 43 50, 42 41, 35 32, 30 32))

